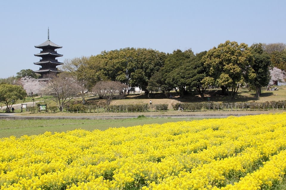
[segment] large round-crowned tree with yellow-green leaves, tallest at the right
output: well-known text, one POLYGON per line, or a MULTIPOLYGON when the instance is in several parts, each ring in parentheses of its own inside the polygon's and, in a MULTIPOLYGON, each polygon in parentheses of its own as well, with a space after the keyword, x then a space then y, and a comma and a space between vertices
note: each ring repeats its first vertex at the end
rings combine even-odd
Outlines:
POLYGON ((226 90, 233 100, 238 88, 244 83, 246 75, 251 75, 253 58, 247 44, 237 42, 221 43, 210 49, 203 57, 205 67, 215 79, 215 83, 226 90), (229 91, 228 88, 231 88, 229 91))

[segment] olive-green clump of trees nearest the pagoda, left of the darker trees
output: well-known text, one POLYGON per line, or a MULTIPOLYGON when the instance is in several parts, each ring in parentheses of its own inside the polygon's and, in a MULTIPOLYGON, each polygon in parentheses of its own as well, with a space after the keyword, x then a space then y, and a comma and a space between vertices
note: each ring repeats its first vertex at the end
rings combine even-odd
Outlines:
POLYGON ((92 91, 97 81, 120 81, 130 87, 140 87, 147 95, 148 81, 154 72, 164 66, 167 54, 146 48, 124 48, 113 51, 102 51, 90 57, 66 59, 60 68, 70 72, 82 86, 84 94, 92 91))

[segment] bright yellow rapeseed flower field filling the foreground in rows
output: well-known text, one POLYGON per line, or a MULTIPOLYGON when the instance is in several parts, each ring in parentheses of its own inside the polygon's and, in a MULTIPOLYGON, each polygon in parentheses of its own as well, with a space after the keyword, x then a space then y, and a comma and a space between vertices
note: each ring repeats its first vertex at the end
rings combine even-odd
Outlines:
POLYGON ((2 138, 1 189, 271 189, 286 113, 2 138))

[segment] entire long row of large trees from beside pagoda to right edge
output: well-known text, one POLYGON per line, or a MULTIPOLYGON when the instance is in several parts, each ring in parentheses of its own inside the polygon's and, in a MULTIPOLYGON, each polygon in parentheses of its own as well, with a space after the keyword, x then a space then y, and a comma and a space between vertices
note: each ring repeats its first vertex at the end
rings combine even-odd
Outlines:
POLYGON ((140 87, 148 96, 153 91, 162 91, 169 97, 175 89, 184 98, 188 89, 196 89, 202 99, 206 88, 216 85, 223 95, 228 94, 233 100, 242 85, 254 89, 259 97, 261 87, 270 81, 269 69, 284 68, 285 47, 269 47, 261 43, 248 47, 245 43, 226 41, 198 54, 191 49, 166 54, 153 49, 124 48, 67 59, 61 69, 80 82, 83 102, 84 94, 91 92, 97 81, 104 80, 122 82, 128 87, 126 93, 130 87, 140 87))

